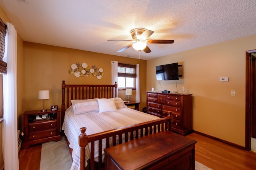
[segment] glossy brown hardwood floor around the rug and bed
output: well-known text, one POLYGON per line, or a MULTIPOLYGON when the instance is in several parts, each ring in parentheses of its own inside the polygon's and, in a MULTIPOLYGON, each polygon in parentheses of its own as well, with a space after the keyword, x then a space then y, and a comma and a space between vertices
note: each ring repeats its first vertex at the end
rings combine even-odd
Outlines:
MULTIPOLYGON (((196 143, 196 161, 213 170, 255 170, 256 154, 220 141, 192 133, 186 137, 196 143)), ((39 170, 41 145, 34 145, 19 152, 20 170, 39 170)))

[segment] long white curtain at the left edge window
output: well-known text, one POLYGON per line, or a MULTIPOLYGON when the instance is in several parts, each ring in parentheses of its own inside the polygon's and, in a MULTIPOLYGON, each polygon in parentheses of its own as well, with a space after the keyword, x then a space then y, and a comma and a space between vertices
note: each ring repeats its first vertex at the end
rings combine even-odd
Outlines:
POLYGON ((6 23, 7 50, 4 61, 8 64, 7 74, 3 75, 4 121, 3 121, 3 156, 4 169, 18 170, 17 137, 17 33, 14 25, 6 23))

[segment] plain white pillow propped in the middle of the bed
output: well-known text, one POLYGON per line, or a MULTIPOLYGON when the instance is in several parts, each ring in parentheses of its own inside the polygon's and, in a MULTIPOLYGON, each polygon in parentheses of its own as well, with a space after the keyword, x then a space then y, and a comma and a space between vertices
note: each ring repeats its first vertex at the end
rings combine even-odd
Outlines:
POLYGON ((98 99, 98 104, 99 104, 100 113, 117 110, 114 98, 98 99))

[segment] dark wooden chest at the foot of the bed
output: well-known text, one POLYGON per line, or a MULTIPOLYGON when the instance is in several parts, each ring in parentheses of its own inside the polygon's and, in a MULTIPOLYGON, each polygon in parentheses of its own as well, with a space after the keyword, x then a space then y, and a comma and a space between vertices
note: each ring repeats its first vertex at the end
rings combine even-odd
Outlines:
POLYGON ((170 131, 110 147, 106 170, 194 170, 196 141, 170 131))

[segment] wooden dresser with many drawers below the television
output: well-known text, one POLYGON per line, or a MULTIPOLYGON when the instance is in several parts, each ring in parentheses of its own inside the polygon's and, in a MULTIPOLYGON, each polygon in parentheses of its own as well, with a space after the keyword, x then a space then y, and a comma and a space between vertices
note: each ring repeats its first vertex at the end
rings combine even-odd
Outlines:
POLYGON ((192 130, 192 94, 147 93, 147 113, 166 117, 168 111, 174 118, 172 131, 187 135, 192 130))

